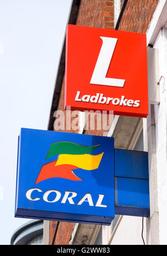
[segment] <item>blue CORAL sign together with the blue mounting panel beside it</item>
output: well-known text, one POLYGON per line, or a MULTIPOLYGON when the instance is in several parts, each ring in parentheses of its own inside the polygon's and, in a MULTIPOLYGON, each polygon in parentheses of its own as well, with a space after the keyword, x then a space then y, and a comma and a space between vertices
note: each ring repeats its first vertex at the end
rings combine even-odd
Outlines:
POLYGON ((114 138, 22 128, 15 216, 110 225, 149 215, 148 153, 114 138))

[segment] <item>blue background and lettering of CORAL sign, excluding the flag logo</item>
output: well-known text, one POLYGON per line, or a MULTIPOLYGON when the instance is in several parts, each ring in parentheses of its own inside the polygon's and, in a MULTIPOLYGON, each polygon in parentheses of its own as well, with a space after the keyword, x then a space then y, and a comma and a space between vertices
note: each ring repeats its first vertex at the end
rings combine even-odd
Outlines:
MULTIPOLYGON (((53 168, 54 173, 56 170, 53 168)), ((115 216, 114 195, 113 138, 21 129, 18 146, 16 217, 110 225, 115 216), (95 170, 72 170, 72 173, 82 180, 48 177, 36 183, 41 167, 58 158, 52 156, 46 159, 51 144, 62 141, 85 147, 99 145, 94 151, 89 152, 92 155, 104 152, 99 167, 95 170), (64 203, 62 199, 65 198, 66 192, 75 196, 72 200, 64 200, 64 203), (78 204, 85 195, 85 200, 78 204)))

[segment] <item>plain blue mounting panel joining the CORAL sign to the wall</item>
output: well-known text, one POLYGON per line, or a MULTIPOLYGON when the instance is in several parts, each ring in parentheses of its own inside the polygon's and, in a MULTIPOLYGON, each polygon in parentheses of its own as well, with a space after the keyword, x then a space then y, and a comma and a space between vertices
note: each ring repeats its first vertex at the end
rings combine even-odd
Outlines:
POLYGON ((115 214, 149 216, 148 153, 115 149, 115 214))

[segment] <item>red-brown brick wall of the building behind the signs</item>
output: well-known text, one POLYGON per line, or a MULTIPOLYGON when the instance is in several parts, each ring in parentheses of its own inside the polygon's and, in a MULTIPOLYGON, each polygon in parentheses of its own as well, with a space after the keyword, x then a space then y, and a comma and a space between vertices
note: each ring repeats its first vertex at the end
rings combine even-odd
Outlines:
MULTIPOLYGON (((128 0, 121 18, 119 30, 145 33, 157 3, 158 0, 128 0)), ((81 0, 76 25, 114 29, 114 0, 81 0)), ((63 110, 64 85, 63 79, 58 110, 63 110)), ((64 111, 64 113, 66 117, 66 112, 64 111)), ((107 117, 108 119, 109 117, 107 117)), ((69 131, 65 129, 64 132, 77 133, 78 130, 69 131)), ((87 130, 85 133, 100 136, 105 136, 106 134, 103 129, 101 131, 97 131, 96 129, 95 131, 87 130)), ((56 224, 56 221, 50 221, 50 244, 52 244, 56 224)), ((68 244, 74 225, 73 223, 61 222, 58 227, 55 244, 68 244)))

